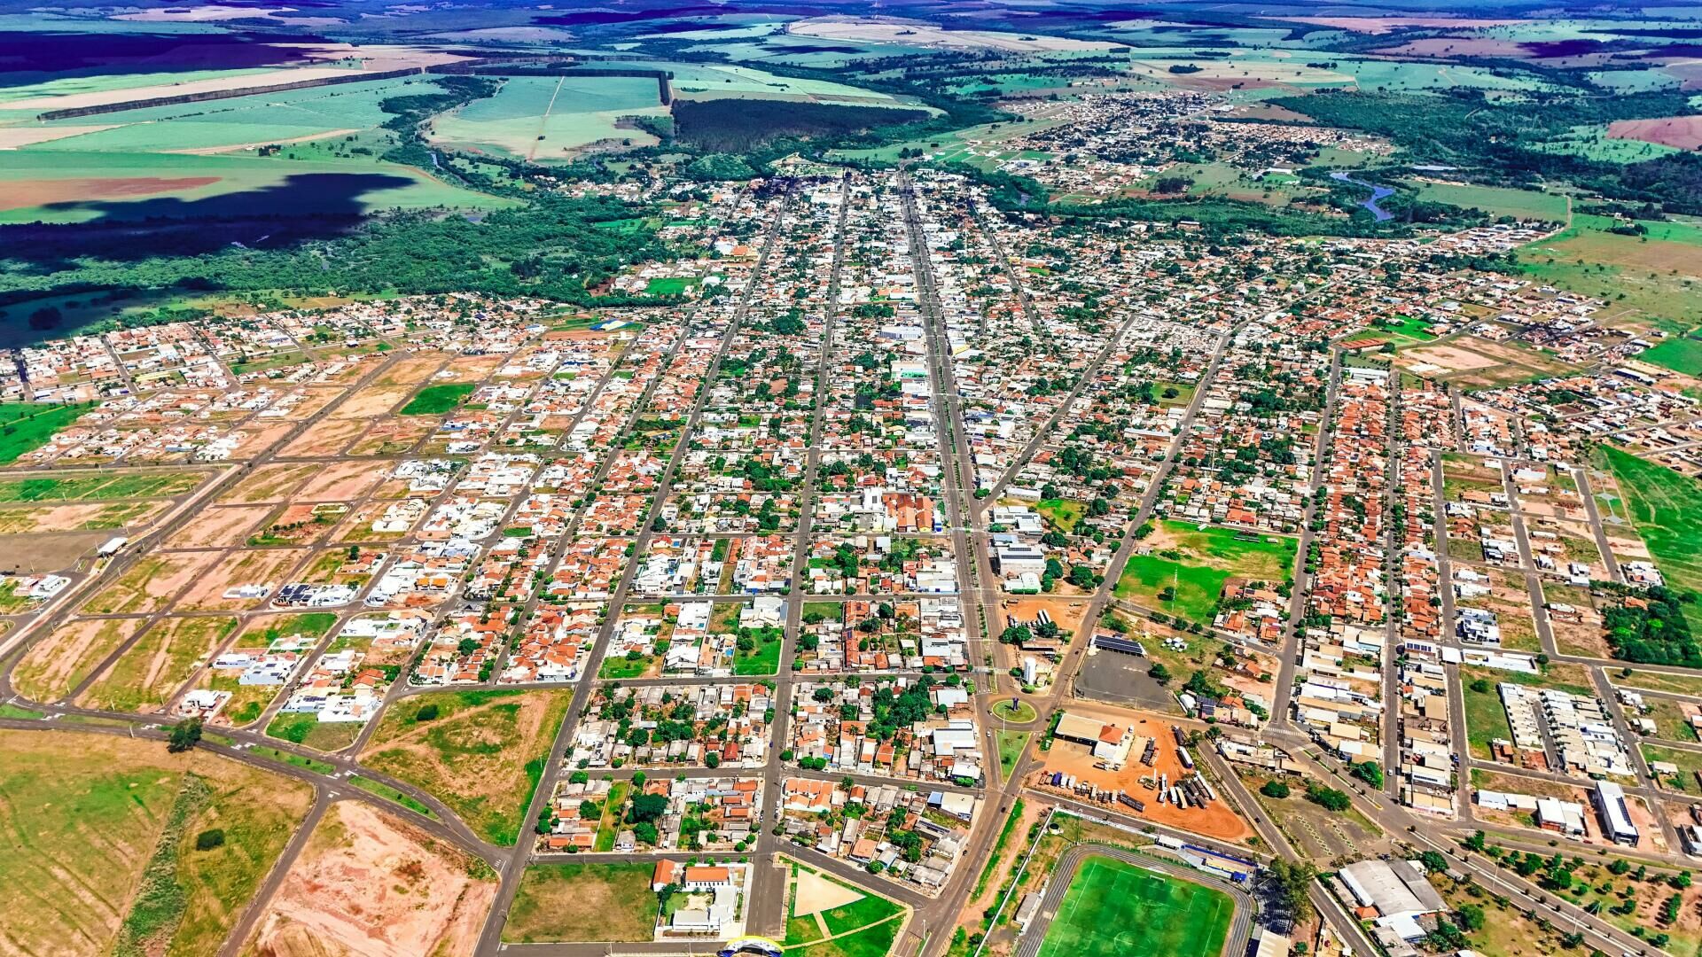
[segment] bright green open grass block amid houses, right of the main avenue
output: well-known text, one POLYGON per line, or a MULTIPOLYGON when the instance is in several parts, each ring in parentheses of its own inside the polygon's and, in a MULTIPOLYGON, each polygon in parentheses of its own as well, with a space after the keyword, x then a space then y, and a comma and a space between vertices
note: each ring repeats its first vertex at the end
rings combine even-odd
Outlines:
POLYGON ((1147 540, 1152 552, 1132 555, 1117 582, 1117 598, 1139 601, 1210 625, 1217 596, 1232 576, 1287 581, 1294 569, 1295 540, 1261 535, 1237 538, 1231 528, 1197 528, 1181 521, 1164 521, 1147 540), (1179 557, 1166 557, 1174 552, 1179 557), (1174 587, 1173 601, 1159 594, 1174 587))

